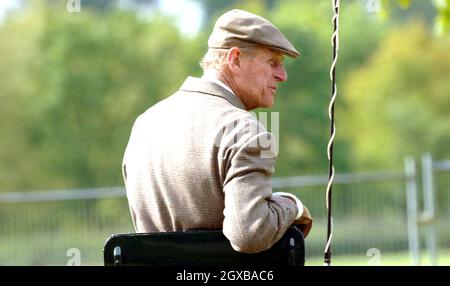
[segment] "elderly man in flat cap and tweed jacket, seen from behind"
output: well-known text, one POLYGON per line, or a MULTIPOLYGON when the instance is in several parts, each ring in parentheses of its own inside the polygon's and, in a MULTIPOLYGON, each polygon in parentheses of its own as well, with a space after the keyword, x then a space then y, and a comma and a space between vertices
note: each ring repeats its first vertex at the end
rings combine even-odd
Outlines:
POLYGON ((272 193, 274 136, 249 112, 271 107, 299 53, 269 21, 231 10, 216 22, 201 61, 172 96, 136 120, 123 175, 137 232, 222 228, 232 247, 270 248, 312 219, 289 193, 272 193))

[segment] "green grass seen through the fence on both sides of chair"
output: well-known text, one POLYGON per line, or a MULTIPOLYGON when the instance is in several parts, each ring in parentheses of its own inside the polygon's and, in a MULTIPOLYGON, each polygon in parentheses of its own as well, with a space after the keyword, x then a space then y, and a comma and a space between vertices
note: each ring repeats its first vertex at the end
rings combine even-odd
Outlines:
MULTIPOLYGON (((81 265, 103 265, 105 240, 113 233, 134 231, 128 212, 123 198, 105 199, 96 204, 71 201, 2 206, 0 265, 66 265, 72 258, 68 252, 71 249, 79 251, 81 265)), ((394 214, 384 213, 384 216, 394 217, 394 214)), ((442 242, 438 265, 450 266, 447 224, 444 219, 436 222, 438 241, 442 242)), ((315 231, 306 243, 306 266, 323 265, 320 253, 325 230, 325 222, 317 220, 315 231)), ((369 247, 382 250, 379 265, 412 264, 409 253, 404 251, 408 247, 407 231, 399 220, 373 222, 363 215, 342 217, 335 239, 333 266, 373 265, 373 257, 366 256, 365 250, 369 247), (348 255, 343 255, 346 253, 348 255)), ((430 265, 425 249, 421 251, 421 258, 420 265, 430 265)))

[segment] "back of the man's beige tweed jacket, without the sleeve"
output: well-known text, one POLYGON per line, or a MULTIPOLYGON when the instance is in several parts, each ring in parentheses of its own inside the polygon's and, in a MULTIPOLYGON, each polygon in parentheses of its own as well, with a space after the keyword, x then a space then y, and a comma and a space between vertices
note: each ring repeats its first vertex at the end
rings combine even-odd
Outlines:
POLYGON ((216 140, 245 113, 223 97, 180 90, 136 120, 124 164, 138 231, 222 228, 225 166, 216 140))

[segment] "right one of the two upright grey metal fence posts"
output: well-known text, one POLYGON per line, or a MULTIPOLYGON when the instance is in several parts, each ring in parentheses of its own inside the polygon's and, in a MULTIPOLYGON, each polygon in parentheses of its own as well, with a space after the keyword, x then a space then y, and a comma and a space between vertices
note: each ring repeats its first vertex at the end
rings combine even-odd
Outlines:
POLYGON ((435 205, 433 184, 433 158, 429 153, 422 155, 423 213, 420 222, 425 224, 426 245, 431 265, 437 265, 435 205))

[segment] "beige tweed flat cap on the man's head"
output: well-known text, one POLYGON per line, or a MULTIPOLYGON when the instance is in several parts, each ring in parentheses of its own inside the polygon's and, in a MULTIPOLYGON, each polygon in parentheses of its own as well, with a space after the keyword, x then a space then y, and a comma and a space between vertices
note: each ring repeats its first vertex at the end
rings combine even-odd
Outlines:
POLYGON ((208 47, 227 49, 263 45, 296 58, 300 53, 268 20, 250 12, 234 9, 217 19, 208 47))

